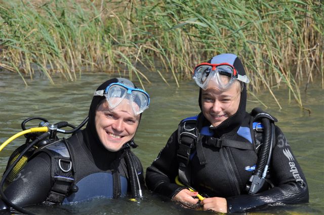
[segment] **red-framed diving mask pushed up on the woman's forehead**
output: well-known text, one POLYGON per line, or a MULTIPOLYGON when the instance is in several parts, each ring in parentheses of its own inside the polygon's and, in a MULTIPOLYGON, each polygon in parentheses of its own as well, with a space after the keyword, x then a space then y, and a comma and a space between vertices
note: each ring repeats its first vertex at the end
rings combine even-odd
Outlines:
POLYGON ((203 90, 216 88, 220 91, 226 91, 235 80, 250 82, 246 75, 238 74, 234 66, 228 63, 201 63, 194 68, 192 77, 203 90))

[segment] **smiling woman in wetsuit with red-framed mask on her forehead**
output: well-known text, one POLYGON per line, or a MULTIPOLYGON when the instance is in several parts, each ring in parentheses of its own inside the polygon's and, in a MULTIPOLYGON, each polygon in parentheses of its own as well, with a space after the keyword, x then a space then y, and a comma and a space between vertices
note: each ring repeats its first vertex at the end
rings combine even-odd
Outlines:
POLYGON ((308 202, 306 179, 277 120, 260 108, 246 112, 249 79, 238 57, 217 55, 197 65, 193 78, 201 112, 180 122, 147 168, 147 187, 225 213, 308 202))

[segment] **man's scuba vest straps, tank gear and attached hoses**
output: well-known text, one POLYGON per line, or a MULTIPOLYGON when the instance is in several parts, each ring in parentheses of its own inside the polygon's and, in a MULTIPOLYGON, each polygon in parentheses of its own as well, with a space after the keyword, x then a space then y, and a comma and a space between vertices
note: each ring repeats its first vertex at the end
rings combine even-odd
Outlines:
MULTIPOLYGON (((74 165, 74 156, 71 156, 71 152, 73 151, 76 154, 79 154, 79 151, 75 151, 75 149, 70 146, 69 142, 63 138, 59 139, 57 137, 57 133, 63 134, 73 134, 72 137, 76 137, 81 134, 79 129, 87 123, 88 117, 77 127, 68 124, 67 122, 59 122, 56 124, 49 124, 45 118, 42 117, 30 117, 22 122, 22 130, 27 131, 25 123, 33 120, 33 119, 41 119, 42 122, 39 123, 39 128, 48 127, 48 129, 41 133, 35 133, 30 131, 30 133, 26 133, 26 142, 18 147, 10 156, 6 170, 3 175, 3 179, 0 183, 0 194, 4 202, 11 206, 12 208, 27 213, 28 211, 23 208, 13 204, 4 194, 3 186, 5 183, 11 183, 17 174, 21 171, 24 165, 31 160, 33 157, 37 156, 39 153, 46 153, 49 155, 51 159, 51 182, 52 188, 48 194, 46 199, 47 203, 62 203, 65 202, 65 197, 72 196, 71 194, 76 193, 78 191, 78 187, 76 186, 75 176, 75 165, 74 165), (70 126, 73 129, 70 131, 62 130, 61 127, 70 126), (72 150, 73 149, 73 150, 72 150)), ((35 130, 40 130, 35 127, 35 130)), ((28 129, 31 130, 31 129, 28 129)), ((33 130, 34 131, 34 130, 33 130)), ((18 134, 20 134, 18 133, 18 134)), ((15 138, 21 135, 15 135, 15 138)), ((14 137, 14 136, 13 136, 14 137)), ((10 143, 15 138, 8 139, 10 143)), ((80 138, 83 139, 83 138, 80 138)), ((8 143, 4 143, 3 145, 7 145, 8 143)), ((2 145, 2 146, 3 146, 2 145)), ((125 160, 127 164, 127 171, 129 175, 129 181, 131 184, 132 195, 134 198, 142 197, 142 190, 139 178, 137 176, 136 168, 138 164, 135 163, 134 158, 132 157, 132 153, 130 151, 130 147, 135 148, 135 143, 127 143, 124 146, 125 150, 125 160)), ((4 147, 2 147, 4 148, 4 147)), ((78 148, 80 150, 80 148, 78 148)), ((107 174, 106 174, 107 175, 107 174)), ((108 174, 109 175, 109 174, 108 174)), ((117 171, 111 172, 112 178, 112 198, 120 197, 121 194, 127 193, 127 184, 128 181, 125 177, 121 177, 117 171), (123 178, 123 179, 121 179, 123 178)), ((110 189, 110 188, 109 188, 110 189)), ((67 201, 68 202, 68 201, 67 201)))

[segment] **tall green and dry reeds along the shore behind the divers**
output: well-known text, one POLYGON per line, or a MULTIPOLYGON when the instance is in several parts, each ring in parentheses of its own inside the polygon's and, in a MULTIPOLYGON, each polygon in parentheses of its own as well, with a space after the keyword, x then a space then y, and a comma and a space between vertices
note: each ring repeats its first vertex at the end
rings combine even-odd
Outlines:
POLYGON ((324 3, 285 1, 9 1, 0 5, 0 72, 33 78, 83 71, 129 74, 142 87, 157 72, 191 78, 193 67, 236 53, 255 96, 287 87, 303 108, 300 89, 324 89, 324 3), (141 70, 140 70, 141 69, 141 70), (305 86, 301 86, 306 82, 305 86))

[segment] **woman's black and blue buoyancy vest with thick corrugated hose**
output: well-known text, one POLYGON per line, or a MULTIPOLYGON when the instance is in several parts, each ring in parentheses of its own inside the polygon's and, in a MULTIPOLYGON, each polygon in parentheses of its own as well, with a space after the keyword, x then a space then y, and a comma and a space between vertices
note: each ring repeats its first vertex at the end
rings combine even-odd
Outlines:
POLYGON ((265 113, 260 108, 254 108, 251 112, 250 127, 239 127, 237 135, 244 137, 251 144, 246 142, 234 141, 228 139, 214 138, 213 133, 208 126, 202 127, 200 132, 197 128, 198 116, 183 119, 178 126, 178 143, 177 159, 179 163, 179 178, 186 186, 190 186, 190 160, 197 153, 200 164, 206 163, 204 155, 199 155, 197 147, 202 147, 202 142, 209 146, 233 147, 244 150, 254 150, 258 154, 257 164, 251 179, 247 183, 249 194, 256 194, 263 187, 265 177, 269 167, 271 151, 274 146, 274 122, 276 118, 265 113), (261 149, 260 149, 261 148, 261 149), (261 150, 259 152, 259 150, 261 150))

